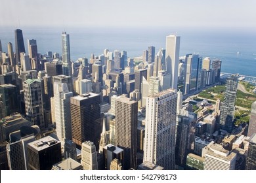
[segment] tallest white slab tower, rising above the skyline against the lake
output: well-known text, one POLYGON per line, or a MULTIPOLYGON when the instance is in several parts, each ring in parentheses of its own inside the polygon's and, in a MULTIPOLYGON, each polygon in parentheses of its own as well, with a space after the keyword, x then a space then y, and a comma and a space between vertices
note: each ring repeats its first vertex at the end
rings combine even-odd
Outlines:
POLYGON ((178 87, 179 53, 181 37, 168 35, 166 37, 165 69, 171 74, 170 88, 178 87))

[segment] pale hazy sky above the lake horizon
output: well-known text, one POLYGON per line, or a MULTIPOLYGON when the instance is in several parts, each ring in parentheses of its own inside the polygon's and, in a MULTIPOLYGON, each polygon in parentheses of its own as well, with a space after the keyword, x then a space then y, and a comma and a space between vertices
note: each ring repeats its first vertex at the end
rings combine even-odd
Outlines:
POLYGON ((256 27, 255 0, 1 0, 0 27, 256 27))

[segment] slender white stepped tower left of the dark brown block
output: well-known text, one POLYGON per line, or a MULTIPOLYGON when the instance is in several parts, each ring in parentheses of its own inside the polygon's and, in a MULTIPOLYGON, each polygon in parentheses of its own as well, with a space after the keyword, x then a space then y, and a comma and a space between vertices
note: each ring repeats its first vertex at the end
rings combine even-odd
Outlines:
POLYGON ((70 92, 68 85, 70 76, 53 76, 54 90, 54 114, 56 122, 56 133, 58 140, 64 144, 65 139, 72 139, 70 98, 73 92, 70 92))

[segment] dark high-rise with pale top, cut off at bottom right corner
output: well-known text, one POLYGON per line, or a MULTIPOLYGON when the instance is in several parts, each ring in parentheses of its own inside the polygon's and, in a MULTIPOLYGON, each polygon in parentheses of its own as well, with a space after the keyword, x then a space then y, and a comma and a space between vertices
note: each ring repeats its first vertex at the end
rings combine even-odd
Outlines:
POLYGON ((256 133, 253 133, 249 139, 249 150, 248 156, 246 159, 246 169, 247 170, 256 170, 256 133))

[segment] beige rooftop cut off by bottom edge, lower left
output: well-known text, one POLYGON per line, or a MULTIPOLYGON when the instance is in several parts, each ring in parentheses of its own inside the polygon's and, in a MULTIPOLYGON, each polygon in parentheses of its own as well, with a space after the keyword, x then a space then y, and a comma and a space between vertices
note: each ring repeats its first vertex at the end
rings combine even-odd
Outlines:
POLYGON ((59 163, 53 165, 54 170, 82 170, 83 167, 80 163, 72 158, 64 159, 59 163))

